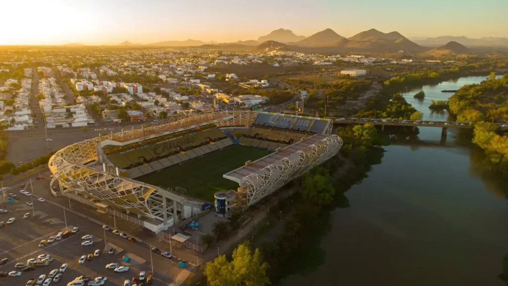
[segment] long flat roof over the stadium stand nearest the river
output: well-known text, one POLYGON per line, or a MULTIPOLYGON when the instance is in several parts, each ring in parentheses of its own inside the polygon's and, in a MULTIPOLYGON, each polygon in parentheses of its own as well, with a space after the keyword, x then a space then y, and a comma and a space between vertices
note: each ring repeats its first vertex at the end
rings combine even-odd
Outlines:
POLYGON ((302 151, 305 148, 308 148, 309 146, 313 145, 315 142, 321 141, 325 138, 327 138, 326 135, 315 134, 298 143, 295 143, 277 152, 273 152, 272 154, 267 155, 261 159, 258 159, 252 163, 232 170, 229 173, 225 174, 223 177, 241 184, 243 178, 248 177, 252 174, 259 174, 262 172, 263 168, 271 164, 278 164, 282 159, 287 158, 288 156, 295 154, 299 151, 302 151))

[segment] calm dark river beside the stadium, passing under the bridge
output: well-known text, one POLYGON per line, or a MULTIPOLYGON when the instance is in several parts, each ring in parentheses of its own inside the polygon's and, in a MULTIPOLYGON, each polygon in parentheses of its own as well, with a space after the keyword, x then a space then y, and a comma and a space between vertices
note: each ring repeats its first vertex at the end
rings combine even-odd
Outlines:
MULTIPOLYGON (((423 102, 412 97, 421 89, 404 97, 426 120, 446 120, 429 112, 430 99, 483 79, 425 86, 423 102)), ((440 128, 423 127, 425 146, 385 147, 382 162, 345 193, 350 207, 332 211, 323 263, 281 284, 505 285, 497 275, 508 254, 508 182, 483 168, 482 153, 459 132, 450 128, 443 144, 440 128)))

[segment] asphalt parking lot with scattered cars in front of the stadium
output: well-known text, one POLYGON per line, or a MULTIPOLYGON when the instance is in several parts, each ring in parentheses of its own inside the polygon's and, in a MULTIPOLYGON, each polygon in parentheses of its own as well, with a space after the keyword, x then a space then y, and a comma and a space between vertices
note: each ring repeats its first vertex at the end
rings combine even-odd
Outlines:
MULTIPOLYGON (((26 187, 25 187, 26 188, 26 187)), ((38 278, 39 275, 46 276, 53 269, 59 269, 63 263, 68 264, 67 270, 62 273, 58 283, 66 285, 80 275, 88 275, 91 279, 98 276, 108 278, 105 285, 123 285, 125 279, 131 280, 138 276, 140 271, 151 272, 150 257, 153 259, 154 279, 153 285, 167 285, 174 281, 179 269, 174 259, 168 259, 161 254, 150 251, 150 246, 143 243, 133 243, 112 233, 112 229, 105 231, 100 224, 92 222, 82 216, 74 214, 69 210, 57 207, 51 202, 39 202, 34 196, 23 195, 19 188, 11 188, 7 193, 12 192, 18 195, 13 203, 3 203, 0 209, 7 209, 9 212, 0 214, 0 221, 7 221, 14 217, 12 224, 5 224, 0 228, 0 260, 7 258, 8 262, 0 266, 0 271, 10 272, 15 269, 16 263, 26 263, 27 260, 37 258, 40 254, 49 254, 54 259, 46 267, 36 267, 33 271, 22 272, 19 277, 0 277, 0 285, 25 285, 30 278, 38 278), (33 199, 34 211, 26 203, 33 199), (30 213, 28 218, 23 218, 25 213, 30 213), (47 240, 50 236, 56 236, 67 227, 79 227, 77 234, 55 241, 42 248, 39 247, 41 240, 47 240), (93 236, 93 244, 82 246, 81 237, 90 234, 93 236), (106 241, 105 241, 106 240, 106 241), (114 248, 114 254, 108 254, 105 249, 114 248), (93 257, 91 261, 80 264, 78 261, 81 255, 93 253, 96 249, 101 254, 93 257), (123 262, 123 255, 130 257, 130 262, 123 262), (115 273, 112 269, 105 269, 109 263, 129 266, 125 273, 115 273)), ((27 188, 30 191, 30 188, 27 188)), ((35 190, 37 193, 37 190, 35 190)), ((51 197, 46 199, 51 200, 51 197)), ((122 231, 122 230, 120 230, 122 231)))

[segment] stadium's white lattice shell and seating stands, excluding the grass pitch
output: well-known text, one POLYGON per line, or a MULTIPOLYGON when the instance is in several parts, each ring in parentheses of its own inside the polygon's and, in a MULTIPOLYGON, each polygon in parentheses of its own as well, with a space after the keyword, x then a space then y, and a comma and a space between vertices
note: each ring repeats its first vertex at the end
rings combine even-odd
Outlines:
POLYGON ((317 118, 214 112, 77 142, 56 152, 48 165, 63 194, 137 216, 139 224, 158 233, 209 204, 137 177, 233 144, 271 149, 275 152, 224 175, 239 184, 235 204, 251 206, 337 154, 342 140, 331 130, 331 121, 317 118), (228 136, 224 129, 230 127, 245 128, 245 135, 228 136))

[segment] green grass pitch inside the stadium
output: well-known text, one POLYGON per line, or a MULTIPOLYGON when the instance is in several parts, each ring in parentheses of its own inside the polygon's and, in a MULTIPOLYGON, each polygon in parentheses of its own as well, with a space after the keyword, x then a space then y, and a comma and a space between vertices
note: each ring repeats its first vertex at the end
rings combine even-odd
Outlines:
POLYGON ((185 188, 188 196, 213 202, 213 193, 238 188, 237 183, 224 179, 224 174, 268 154, 270 151, 265 149, 233 145, 136 180, 163 188, 185 188))

